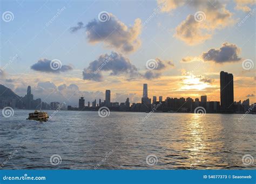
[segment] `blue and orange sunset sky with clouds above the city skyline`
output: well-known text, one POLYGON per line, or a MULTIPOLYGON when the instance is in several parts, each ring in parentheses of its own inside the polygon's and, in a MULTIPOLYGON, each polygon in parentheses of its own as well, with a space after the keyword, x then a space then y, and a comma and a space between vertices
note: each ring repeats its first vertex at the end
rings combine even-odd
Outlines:
POLYGON ((207 95, 234 75, 256 102, 255 1, 1 1, 0 83, 20 96, 78 105, 207 95))

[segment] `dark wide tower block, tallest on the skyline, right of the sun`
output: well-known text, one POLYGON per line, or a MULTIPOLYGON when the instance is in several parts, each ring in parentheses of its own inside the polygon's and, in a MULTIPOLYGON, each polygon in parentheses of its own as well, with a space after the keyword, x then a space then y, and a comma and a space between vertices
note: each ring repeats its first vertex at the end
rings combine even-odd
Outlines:
POLYGON ((221 112, 234 112, 233 75, 220 72, 220 107, 221 112))

